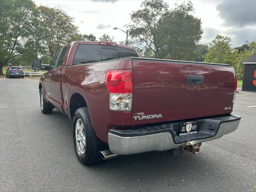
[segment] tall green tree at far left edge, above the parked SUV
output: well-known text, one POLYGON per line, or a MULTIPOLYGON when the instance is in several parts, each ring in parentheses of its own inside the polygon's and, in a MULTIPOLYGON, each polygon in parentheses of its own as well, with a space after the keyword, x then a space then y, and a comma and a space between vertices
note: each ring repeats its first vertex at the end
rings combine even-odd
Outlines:
POLYGON ((0 6, 0 74, 2 67, 24 52, 36 6, 32 0, 4 0, 0 6))

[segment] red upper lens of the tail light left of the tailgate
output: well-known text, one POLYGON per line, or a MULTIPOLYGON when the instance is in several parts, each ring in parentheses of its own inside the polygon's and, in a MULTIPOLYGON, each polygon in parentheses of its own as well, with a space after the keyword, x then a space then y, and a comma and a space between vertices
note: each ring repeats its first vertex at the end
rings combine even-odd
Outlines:
POLYGON ((132 70, 108 70, 106 84, 110 93, 132 93, 132 70))

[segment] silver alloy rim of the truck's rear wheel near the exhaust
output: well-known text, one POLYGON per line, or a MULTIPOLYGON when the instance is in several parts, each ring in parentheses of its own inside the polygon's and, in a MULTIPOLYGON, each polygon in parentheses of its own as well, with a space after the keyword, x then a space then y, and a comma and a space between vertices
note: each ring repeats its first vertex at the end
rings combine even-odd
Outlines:
POLYGON ((85 132, 84 132, 84 124, 81 119, 76 120, 76 150, 79 155, 84 154, 85 147, 85 132))

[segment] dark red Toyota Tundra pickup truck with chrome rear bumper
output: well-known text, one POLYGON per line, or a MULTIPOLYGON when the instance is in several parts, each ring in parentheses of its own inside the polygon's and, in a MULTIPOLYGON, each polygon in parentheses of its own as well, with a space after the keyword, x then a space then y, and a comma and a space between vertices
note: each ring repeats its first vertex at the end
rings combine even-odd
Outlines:
POLYGON ((41 111, 56 108, 73 122, 82 164, 150 151, 196 154, 241 118, 231 114, 236 75, 226 64, 141 58, 130 46, 76 41, 32 68, 47 70, 41 111))

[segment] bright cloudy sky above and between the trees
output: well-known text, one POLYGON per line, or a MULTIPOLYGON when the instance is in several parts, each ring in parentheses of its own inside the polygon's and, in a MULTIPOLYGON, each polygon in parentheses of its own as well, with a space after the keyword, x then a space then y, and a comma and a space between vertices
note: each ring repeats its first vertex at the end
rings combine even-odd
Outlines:
MULTIPOLYGON (((166 1, 170 8, 182 1, 166 1)), ((82 34, 94 34, 97 38, 106 33, 116 42, 123 41, 126 34, 114 27, 124 29, 130 22, 130 13, 140 9, 140 0, 35 0, 37 6, 60 6, 70 16, 82 34)), ((256 41, 255 0, 192 0, 194 15, 202 20, 204 34, 202 43, 208 43, 217 34, 232 38, 232 46, 240 46, 246 40, 256 41)))

